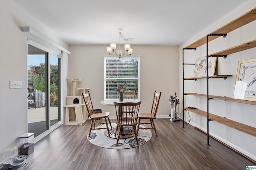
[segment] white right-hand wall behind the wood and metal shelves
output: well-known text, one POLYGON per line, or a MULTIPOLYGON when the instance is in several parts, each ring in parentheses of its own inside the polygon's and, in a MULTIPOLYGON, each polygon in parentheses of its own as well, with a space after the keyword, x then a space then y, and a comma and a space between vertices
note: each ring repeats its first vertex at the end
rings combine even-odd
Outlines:
MULTIPOLYGON (((249 0, 242 6, 238 7, 234 11, 230 12, 228 15, 213 23, 210 27, 201 31, 185 43, 179 46, 179 65, 180 65, 180 96, 182 95, 182 48, 191 44, 192 42, 200 39, 201 37, 207 35, 208 33, 218 29, 225 25, 226 23, 238 18, 244 13, 252 10, 256 7, 256 1, 249 0)), ((226 38, 219 37, 218 39, 211 41, 209 43, 209 54, 227 49, 229 47, 234 47, 242 43, 256 39, 256 21, 249 23, 241 28, 238 28, 230 33, 228 33, 226 38)), ((236 72, 238 67, 238 61, 252 59, 256 57, 256 48, 242 51, 239 53, 234 53, 228 55, 227 59, 218 58, 218 69, 219 75, 233 75, 227 80, 223 79, 210 79, 209 80, 209 94, 216 96, 233 96, 233 90, 236 80, 236 72)), ((194 50, 184 51, 184 63, 195 63, 197 58, 206 56, 206 45, 202 45, 194 50)), ((185 66, 185 77, 193 77, 194 66, 185 66)), ((206 79, 185 80, 185 90, 184 92, 191 93, 201 93, 206 94, 206 79)), ((183 102, 181 100, 181 102, 183 102)), ((197 107, 206 111, 206 98, 199 98, 195 96, 185 96, 184 106, 197 107)), ((181 103, 182 106, 182 103, 181 103)), ((209 112, 221 117, 226 117, 228 119, 256 127, 255 125, 255 105, 240 104, 235 102, 226 102, 220 100, 210 100, 209 101, 209 112)), ((199 127, 200 129, 206 131, 206 118, 196 115, 190 112, 191 124, 199 127)), ((188 112, 185 114, 185 118, 189 119, 188 112)), ((209 122, 210 135, 220 139, 224 143, 230 145, 234 149, 242 152, 243 154, 249 156, 250 158, 256 160, 256 138, 251 135, 247 135, 230 127, 226 127, 215 121, 209 122)), ((207 143, 207 138, 205 138, 205 143, 207 143)), ((211 144, 211 143, 210 143, 211 144)), ((214 146, 212 146, 214 147, 214 146)))

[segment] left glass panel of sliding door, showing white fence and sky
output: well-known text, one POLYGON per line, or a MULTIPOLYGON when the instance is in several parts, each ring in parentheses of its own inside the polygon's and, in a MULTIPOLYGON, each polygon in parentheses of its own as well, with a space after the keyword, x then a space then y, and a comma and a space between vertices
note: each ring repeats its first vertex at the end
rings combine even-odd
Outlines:
POLYGON ((28 132, 48 130, 46 61, 48 53, 28 45, 28 132))

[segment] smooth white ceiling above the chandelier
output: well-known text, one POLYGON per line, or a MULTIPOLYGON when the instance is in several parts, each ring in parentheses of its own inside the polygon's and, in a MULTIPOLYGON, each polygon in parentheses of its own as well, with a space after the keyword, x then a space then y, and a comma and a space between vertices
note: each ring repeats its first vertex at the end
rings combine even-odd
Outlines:
MULTIPOLYGON (((12 0, 70 45, 180 45, 247 0, 12 0)), ((30 26, 30 25, 23 25, 30 26)))

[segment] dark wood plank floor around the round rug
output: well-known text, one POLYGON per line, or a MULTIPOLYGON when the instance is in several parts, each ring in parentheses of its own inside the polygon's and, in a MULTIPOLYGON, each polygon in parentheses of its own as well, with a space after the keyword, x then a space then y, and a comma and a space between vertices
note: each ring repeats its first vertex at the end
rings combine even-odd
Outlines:
MULTIPOLYGON (((113 120, 111 120, 113 121, 113 120)), ((244 170, 256 166, 182 121, 156 119, 158 137, 132 149, 105 149, 86 138, 90 122, 62 125, 34 146, 26 170, 244 170)))

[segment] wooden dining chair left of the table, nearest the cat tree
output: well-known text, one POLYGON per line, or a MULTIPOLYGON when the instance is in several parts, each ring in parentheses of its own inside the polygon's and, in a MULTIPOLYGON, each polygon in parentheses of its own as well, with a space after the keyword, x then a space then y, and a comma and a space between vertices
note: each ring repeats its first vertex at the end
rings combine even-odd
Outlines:
POLYGON ((110 123, 110 119, 108 117, 109 112, 102 112, 102 113, 97 113, 95 114, 93 105, 92 105, 92 99, 90 96, 90 92, 84 94, 83 92, 81 93, 82 97, 84 99, 84 103, 88 112, 88 119, 91 120, 91 125, 90 125, 90 131, 89 131, 89 137, 91 135, 91 131, 95 129, 107 129, 108 131, 108 136, 110 136, 109 130, 108 130, 108 123, 110 124, 110 127, 112 129, 112 125, 110 123), (108 122, 107 122, 108 118, 108 122), (98 122, 96 123, 97 119, 105 119, 105 122, 98 122), (106 127, 102 127, 103 124, 106 124, 106 127), (95 125, 99 125, 99 127, 95 127, 95 125))

